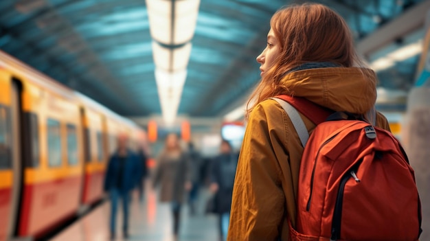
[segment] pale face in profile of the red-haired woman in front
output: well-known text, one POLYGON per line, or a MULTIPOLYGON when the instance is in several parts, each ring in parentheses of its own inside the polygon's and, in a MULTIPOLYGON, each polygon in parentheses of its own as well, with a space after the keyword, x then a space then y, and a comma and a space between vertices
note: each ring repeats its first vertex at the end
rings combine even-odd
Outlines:
POLYGON ((276 57, 280 54, 280 43, 278 38, 275 37, 275 33, 270 29, 269 34, 267 34, 267 46, 262 51, 262 53, 257 56, 257 62, 261 64, 260 66, 260 76, 264 76, 264 72, 268 71, 275 63, 276 57))

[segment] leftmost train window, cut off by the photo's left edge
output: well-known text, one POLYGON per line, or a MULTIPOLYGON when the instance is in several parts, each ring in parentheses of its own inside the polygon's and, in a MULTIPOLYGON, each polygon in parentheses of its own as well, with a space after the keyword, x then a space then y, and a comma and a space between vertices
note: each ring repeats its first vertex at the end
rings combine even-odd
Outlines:
POLYGON ((10 110, 5 106, 0 106, 0 169, 11 167, 11 142, 10 110))

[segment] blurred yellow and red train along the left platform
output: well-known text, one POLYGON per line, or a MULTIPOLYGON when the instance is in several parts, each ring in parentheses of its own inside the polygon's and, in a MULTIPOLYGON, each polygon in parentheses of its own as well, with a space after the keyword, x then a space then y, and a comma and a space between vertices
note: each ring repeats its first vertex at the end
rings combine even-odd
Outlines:
POLYGON ((119 133, 144 130, 0 51, 0 241, 40 237, 103 198, 119 133))

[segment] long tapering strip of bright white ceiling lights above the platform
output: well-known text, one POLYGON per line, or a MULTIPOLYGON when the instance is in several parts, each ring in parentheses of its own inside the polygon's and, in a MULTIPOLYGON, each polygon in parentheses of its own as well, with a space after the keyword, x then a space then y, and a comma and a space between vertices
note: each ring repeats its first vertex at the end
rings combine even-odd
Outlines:
POLYGON ((154 40, 155 80, 163 119, 168 125, 176 119, 187 78, 199 4, 200 0, 146 0, 154 40))

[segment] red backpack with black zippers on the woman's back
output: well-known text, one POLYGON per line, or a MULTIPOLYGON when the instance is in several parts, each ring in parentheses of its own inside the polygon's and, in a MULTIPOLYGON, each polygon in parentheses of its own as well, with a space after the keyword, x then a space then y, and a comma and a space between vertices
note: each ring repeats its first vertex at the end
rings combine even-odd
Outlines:
POLYGON ((305 147, 291 240, 418 240, 414 170, 391 133, 347 113, 330 115, 304 98, 273 99, 305 147), (317 125, 310 137, 295 108, 317 125))

